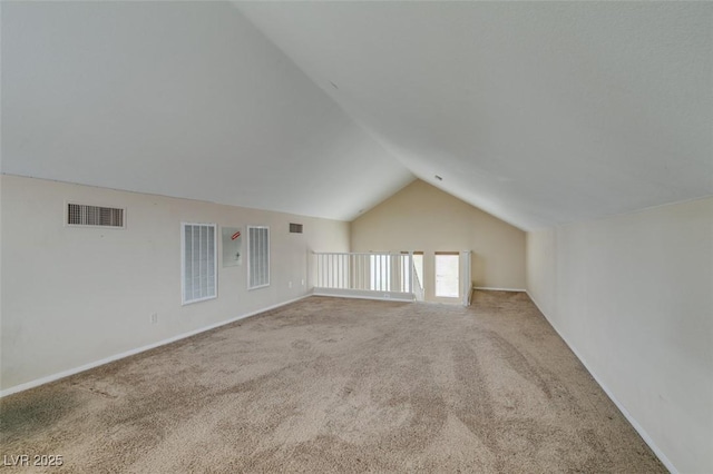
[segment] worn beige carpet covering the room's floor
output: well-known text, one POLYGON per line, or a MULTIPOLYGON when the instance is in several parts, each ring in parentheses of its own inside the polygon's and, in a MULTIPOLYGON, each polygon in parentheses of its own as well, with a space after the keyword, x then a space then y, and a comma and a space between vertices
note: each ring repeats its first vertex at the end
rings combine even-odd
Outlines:
POLYGON ((52 473, 666 472, 517 293, 312 297, 1 408, 6 462, 52 473))

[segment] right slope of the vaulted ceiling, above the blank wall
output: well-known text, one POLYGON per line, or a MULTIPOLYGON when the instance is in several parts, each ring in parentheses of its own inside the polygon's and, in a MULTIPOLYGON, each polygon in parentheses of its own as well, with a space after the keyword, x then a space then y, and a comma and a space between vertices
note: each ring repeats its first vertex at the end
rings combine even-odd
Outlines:
POLYGON ((711 2, 237 7, 416 176, 518 227, 713 194, 711 2))

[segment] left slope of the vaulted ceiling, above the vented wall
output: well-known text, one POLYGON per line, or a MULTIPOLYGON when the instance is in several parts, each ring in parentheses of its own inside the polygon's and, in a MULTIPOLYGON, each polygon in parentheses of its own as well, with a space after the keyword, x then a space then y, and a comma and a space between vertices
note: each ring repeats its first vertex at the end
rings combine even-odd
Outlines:
POLYGON ((351 220, 413 175, 228 2, 2 2, 2 172, 351 220))

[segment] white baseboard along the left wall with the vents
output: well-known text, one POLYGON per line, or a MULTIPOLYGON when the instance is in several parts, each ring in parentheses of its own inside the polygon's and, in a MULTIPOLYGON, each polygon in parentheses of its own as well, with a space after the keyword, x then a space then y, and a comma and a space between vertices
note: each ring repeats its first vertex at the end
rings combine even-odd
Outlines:
POLYGON ((165 346, 166 344, 175 343, 176 340, 185 339, 186 337, 195 336, 196 334, 205 333, 206 330, 215 329, 217 327, 225 326, 225 325, 231 324, 231 323, 235 323, 236 320, 245 319, 245 318, 248 318, 251 316, 256 316, 256 315, 258 315, 261 313, 265 313, 265 312, 268 312, 268 310, 272 310, 272 309, 276 309, 276 308, 279 308, 281 306, 285 306, 285 305, 289 305, 291 303, 299 302, 300 299, 309 298, 310 296, 312 296, 312 295, 311 294, 306 294, 304 296, 300 296, 299 298, 290 299, 287 302, 279 303, 276 305, 272 305, 272 306, 268 306, 266 308, 262 308, 262 309, 257 309, 255 312, 246 313, 244 315, 241 315, 241 316, 227 319, 227 320, 222 320, 219 323, 212 324, 211 326, 202 327, 199 329, 195 329, 195 330, 192 330, 189 333, 179 334, 178 336, 169 337, 168 339, 163 339, 163 340, 159 340, 158 343, 149 344, 147 346, 138 347, 138 348, 130 349, 130 350, 127 350, 127 352, 121 353, 121 354, 116 354, 116 355, 113 355, 113 356, 109 356, 109 357, 105 357, 105 358, 102 358, 100 361, 91 362, 89 364, 85 364, 85 365, 81 365, 79 367, 74 367, 74 368, 70 368, 68 371, 62 371, 62 372, 59 372, 57 374, 52 374, 52 375, 48 375, 46 377, 37 378, 35 381, 26 382, 23 384, 16 385, 16 386, 10 387, 10 388, 6 388, 4 391, 0 391, 0 398, 6 397, 8 395, 12 395, 12 394, 19 393, 19 392, 28 391, 30 388, 39 387, 40 385, 49 384, 50 382, 56 382, 56 381, 59 381, 60 378, 69 377, 70 375, 76 375, 76 374, 79 374, 80 372, 89 371, 90 368, 99 367, 100 365, 109 364, 111 362, 119 361, 119 359, 125 358, 125 357, 129 357, 129 356, 133 356, 133 355, 136 355, 136 354, 140 354, 140 353, 146 352, 146 350, 155 349, 156 347, 165 346))

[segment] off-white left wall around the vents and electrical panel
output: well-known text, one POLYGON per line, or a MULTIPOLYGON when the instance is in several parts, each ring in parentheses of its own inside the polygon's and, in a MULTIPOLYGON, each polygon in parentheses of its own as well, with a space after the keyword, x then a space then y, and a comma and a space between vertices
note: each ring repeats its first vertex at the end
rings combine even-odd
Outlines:
POLYGON ((2 391, 304 296, 307 251, 349 251, 343 221, 7 175, 0 184, 2 391), (125 207, 126 229, 68 228, 67 200, 125 207), (271 286, 248 292, 246 261, 223 268, 218 257, 217 299, 182 306, 182 221, 270 226, 271 286), (291 221, 304 234, 289 234, 291 221))

